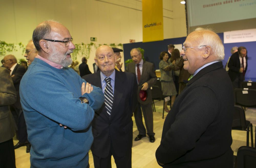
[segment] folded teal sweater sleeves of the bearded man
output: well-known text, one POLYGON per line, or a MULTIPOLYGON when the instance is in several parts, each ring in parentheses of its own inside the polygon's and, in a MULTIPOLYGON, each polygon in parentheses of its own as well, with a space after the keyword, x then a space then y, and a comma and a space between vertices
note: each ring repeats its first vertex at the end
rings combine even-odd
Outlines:
POLYGON ((23 87, 23 90, 20 91, 26 95, 24 97, 26 103, 24 104, 29 105, 32 109, 50 118, 57 124, 60 123, 72 130, 86 129, 94 117, 94 110, 90 104, 97 106, 95 103, 102 101, 99 89, 95 87, 95 91, 90 93, 91 95, 84 95, 91 102, 89 104, 81 103, 79 97, 82 96, 82 93, 79 92, 78 95, 74 95, 68 89, 69 86, 66 86, 65 83, 58 80, 51 73, 47 75, 46 72, 31 74, 28 78, 28 83, 29 86, 23 87), (95 100, 97 98, 99 100, 95 100))

